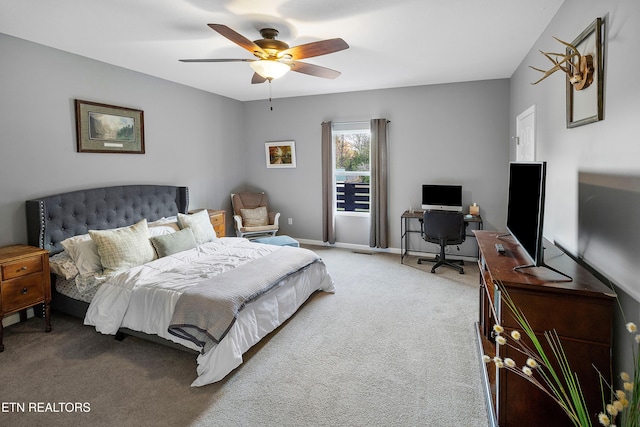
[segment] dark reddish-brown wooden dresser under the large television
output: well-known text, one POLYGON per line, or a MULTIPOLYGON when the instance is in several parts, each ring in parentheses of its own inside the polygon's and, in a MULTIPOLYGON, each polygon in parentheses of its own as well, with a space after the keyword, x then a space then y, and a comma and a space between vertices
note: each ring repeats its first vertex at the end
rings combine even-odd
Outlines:
MULTIPOLYGON (((511 237, 499 237, 492 231, 475 231, 480 251, 479 350, 493 357, 512 358, 522 366, 526 358, 509 346, 496 348, 493 325, 500 324, 506 333, 520 330, 504 304, 501 283, 516 306, 524 313, 541 343, 544 332, 555 330, 577 373, 593 425, 602 410, 600 382, 594 365, 607 381, 611 378, 611 340, 615 295, 574 259, 552 243, 545 241, 545 263, 571 276, 545 267, 514 270, 529 262, 511 237), (496 243, 503 245, 498 253, 496 243)), ((547 354, 552 354, 550 351, 547 354)), ((553 356, 551 356, 553 357, 553 356)), ((572 426, 569 418, 540 389, 493 362, 483 366, 483 380, 490 425, 500 427, 572 426)))

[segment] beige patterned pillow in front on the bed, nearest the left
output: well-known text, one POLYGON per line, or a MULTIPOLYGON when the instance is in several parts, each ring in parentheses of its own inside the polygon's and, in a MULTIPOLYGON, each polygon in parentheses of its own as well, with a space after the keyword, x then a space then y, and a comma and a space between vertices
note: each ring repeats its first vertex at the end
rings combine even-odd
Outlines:
POLYGON ((89 230, 89 235, 98 247, 105 274, 142 265, 156 258, 156 251, 149 241, 146 219, 115 230, 89 230))

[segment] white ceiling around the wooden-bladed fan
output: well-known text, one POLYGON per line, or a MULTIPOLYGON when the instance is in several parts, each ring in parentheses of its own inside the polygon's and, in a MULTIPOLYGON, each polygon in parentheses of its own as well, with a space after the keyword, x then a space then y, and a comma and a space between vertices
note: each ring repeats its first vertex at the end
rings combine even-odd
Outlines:
POLYGON ((284 98, 508 78, 563 2, 0 0, 0 33, 247 101, 269 97, 268 83, 251 84, 248 63, 178 61, 253 58, 208 23, 250 40, 274 27, 290 46, 335 37, 349 44, 304 60, 341 71, 335 80, 295 72, 274 80, 273 97, 284 98))

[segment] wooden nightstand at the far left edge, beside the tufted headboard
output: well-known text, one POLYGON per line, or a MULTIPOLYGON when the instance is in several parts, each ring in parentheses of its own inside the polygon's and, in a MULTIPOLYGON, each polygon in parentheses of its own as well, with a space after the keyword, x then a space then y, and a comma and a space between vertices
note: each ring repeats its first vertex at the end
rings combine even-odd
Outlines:
POLYGON ((26 310, 44 304, 45 332, 51 331, 50 317, 51 276, 49 251, 27 245, 0 248, 0 351, 2 319, 6 314, 20 311, 20 320, 26 319, 26 310))

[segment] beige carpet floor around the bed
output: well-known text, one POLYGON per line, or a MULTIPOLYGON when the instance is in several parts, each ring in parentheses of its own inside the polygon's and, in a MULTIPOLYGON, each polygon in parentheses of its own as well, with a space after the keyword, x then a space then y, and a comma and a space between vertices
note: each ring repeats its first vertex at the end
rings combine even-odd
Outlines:
POLYGON ((337 292, 317 293, 200 388, 193 354, 122 342, 53 313, 5 328, 1 426, 485 427, 474 322, 478 269, 313 247, 337 292), (79 408, 75 404, 79 404, 79 408))

